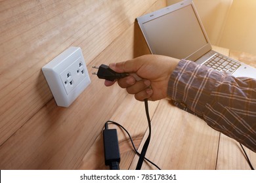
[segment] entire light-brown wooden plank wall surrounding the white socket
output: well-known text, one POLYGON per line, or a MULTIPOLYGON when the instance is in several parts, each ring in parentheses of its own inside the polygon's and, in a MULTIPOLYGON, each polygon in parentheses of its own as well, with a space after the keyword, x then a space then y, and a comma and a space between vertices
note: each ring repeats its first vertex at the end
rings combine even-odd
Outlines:
POLYGON ((135 18, 165 1, 0 2, 0 169, 77 169, 127 93, 92 83, 68 108, 57 107, 41 67, 69 46, 92 65, 148 52, 135 18), (137 48, 137 49, 135 49, 137 48))

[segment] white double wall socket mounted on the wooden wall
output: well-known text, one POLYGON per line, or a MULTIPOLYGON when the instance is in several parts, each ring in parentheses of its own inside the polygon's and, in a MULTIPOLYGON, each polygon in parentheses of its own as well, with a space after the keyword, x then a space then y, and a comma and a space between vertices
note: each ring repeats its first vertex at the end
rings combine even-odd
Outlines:
POLYGON ((68 107, 91 83, 81 48, 70 47, 42 68, 58 106, 68 107))

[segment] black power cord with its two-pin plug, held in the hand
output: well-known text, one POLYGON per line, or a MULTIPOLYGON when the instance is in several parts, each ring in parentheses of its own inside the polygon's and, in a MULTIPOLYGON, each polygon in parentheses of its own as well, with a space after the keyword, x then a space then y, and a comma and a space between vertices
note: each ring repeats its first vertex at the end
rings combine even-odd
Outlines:
MULTIPOLYGON (((104 64, 100 65, 100 67, 93 66, 93 68, 98 69, 98 73, 93 73, 93 75, 97 75, 98 78, 100 78, 100 79, 114 81, 114 80, 118 80, 120 78, 125 78, 126 76, 129 76, 129 73, 116 73, 116 71, 113 71, 112 69, 110 69, 110 67, 108 67, 108 65, 104 65, 104 64)), ((139 161, 137 163, 136 170, 140 170, 142 167, 142 163, 145 159, 146 150, 148 149, 148 145, 150 143, 150 137, 151 137, 151 122, 150 122, 150 115, 148 112, 148 100, 147 99, 144 99, 144 104, 145 104, 145 110, 146 110, 146 117, 148 120, 149 133, 148 133, 148 138, 144 142, 144 145, 140 152, 139 161)), ((104 143, 104 147, 105 147, 105 145, 106 144, 104 143)), ((114 154, 116 154, 116 152, 114 154)), ((106 156, 105 156, 105 158, 106 158, 106 156)), ((105 159, 105 163, 106 163, 106 159, 105 159)))

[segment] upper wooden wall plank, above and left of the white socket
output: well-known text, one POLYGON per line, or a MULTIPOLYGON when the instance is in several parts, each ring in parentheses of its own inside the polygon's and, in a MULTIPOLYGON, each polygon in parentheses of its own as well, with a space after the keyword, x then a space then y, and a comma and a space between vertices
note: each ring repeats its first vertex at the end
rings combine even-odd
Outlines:
POLYGON ((69 46, 90 63, 155 1, 1 1, 0 144, 53 99, 43 65, 69 46))

